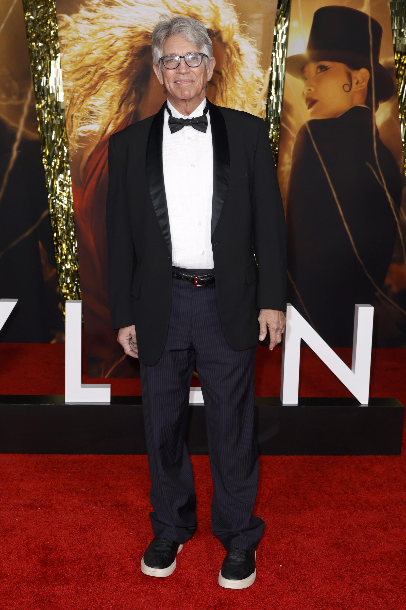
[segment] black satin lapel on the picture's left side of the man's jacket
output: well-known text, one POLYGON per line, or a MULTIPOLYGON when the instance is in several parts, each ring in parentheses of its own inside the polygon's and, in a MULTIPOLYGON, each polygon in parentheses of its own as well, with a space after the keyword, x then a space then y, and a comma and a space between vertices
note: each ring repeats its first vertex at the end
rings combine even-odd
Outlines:
POLYGON ((164 129, 164 106, 153 118, 147 143, 147 180, 156 218, 163 233, 166 245, 172 254, 169 215, 166 203, 164 168, 162 160, 162 137, 164 129))

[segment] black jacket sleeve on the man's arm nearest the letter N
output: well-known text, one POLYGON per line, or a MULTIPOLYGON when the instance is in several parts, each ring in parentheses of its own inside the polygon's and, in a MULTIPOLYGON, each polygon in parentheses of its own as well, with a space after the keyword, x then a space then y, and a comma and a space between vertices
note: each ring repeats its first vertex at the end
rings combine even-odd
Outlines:
POLYGON ((265 121, 258 121, 251 205, 259 279, 257 307, 286 311, 285 215, 265 121))

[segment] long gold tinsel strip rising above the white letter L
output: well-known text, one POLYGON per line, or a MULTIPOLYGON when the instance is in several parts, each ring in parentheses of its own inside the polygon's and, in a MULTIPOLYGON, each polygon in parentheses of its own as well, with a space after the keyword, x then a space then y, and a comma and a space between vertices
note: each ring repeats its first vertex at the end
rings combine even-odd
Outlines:
POLYGON ((49 215, 65 319, 66 299, 80 299, 68 138, 54 0, 23 0, 49 215))

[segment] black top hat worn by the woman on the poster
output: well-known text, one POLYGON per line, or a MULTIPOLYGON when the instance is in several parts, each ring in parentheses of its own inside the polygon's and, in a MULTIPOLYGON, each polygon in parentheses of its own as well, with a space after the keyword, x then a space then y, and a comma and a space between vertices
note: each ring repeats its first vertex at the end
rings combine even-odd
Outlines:
POLYGON ((287 57, 287 73, 300 78, 307 63, 319 61, 346 63, 357 69, 368 68, 371 72, 371 38, 376 101, 389 99, 394 93, 394 83, 390 73, 379 63, 382 27, 375 19, 370 19, 371 37, 366 13, 346 6, 321 7, 313 15, 306 53, 287 57))

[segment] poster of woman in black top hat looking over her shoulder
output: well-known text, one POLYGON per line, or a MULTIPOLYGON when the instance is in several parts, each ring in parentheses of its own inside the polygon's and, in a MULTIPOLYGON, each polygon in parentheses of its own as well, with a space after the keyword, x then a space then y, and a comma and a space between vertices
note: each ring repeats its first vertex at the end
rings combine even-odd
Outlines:
POLYGON ((386 0, 292 0, 278 178, 288 297, 331 346, 354 306, 406 344, 405 176, 386 0))

